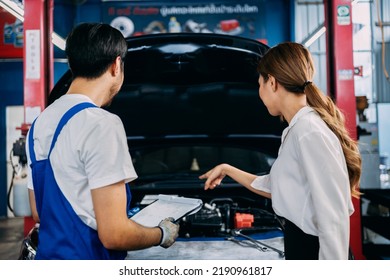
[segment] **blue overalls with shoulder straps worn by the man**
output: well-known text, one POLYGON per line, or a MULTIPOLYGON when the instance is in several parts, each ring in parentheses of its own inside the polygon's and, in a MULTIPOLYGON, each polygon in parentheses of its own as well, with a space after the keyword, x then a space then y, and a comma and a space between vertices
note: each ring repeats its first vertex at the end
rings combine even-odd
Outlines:
MULTIPOLYGON (((96 107, 80 103, 69 109, 61 118, 54 133, 47 159, 36 160, 34 153, 34 124, 29 132, 29 152, 37 212, 40 217, 39 243, 35 259, 124 259, 126 251, 107 250, 96 230, 87 226, 73 210, 61 192, 50 164, 50 154, 61 129, 79 111, 96 107)), ((131 193, 126 184, 127 209, 131 193)))

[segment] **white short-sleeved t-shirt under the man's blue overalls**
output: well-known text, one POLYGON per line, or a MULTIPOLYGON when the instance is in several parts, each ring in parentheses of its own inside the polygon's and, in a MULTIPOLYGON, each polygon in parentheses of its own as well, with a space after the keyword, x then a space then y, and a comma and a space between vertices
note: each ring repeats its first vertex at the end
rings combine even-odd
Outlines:
MULTIPOLYGON (((65 94, 38 117, 34 128, 37 160, 46 159, 62 116, 74 105, 91 102, 81 94, 65 94)), ((28 137, 27 137, 28 141, 28 137)), ((27 147, 28 166, 30 156, 27 147)), ((63 127, 50 155, 54 177, 81 220, 96 229, 91 190, 137 178, 120 118, 101 108, 87 108, 63 127)), ((33 189, 31 170, 28 188, 33 189)))

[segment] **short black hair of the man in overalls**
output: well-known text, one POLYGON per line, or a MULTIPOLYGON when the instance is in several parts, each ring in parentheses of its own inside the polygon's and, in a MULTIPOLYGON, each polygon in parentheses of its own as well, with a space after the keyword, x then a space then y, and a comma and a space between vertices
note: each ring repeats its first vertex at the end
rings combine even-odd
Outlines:
POLYGON ((65 52, 73 78, 101 76, 120 56, 126 57, 127 43, 122 33, 104 23, 82 23, 66 39, 65 52))

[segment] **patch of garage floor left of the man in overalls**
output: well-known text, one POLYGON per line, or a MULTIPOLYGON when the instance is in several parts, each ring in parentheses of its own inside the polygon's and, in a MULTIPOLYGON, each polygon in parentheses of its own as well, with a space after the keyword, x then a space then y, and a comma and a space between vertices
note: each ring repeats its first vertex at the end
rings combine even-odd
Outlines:
POLYGON ((0 218, 0 260, 17 260, 23 240, 24 218, 0 218))

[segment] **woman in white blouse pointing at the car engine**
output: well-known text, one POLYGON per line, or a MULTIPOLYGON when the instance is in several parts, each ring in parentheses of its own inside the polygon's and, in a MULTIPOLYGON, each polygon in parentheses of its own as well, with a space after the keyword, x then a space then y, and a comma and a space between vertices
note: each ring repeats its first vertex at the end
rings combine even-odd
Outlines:
POLYGON ((272 199, 283 217, 286 259, 348 259, 351 196, 358 196, 361 158, 333 101, 313 84, 309 51, 282 43, 261 59, 259 95, 289 126, 270 174, 256 176, 221 164, 200 176, 214 189, 229 176, 272 199))

